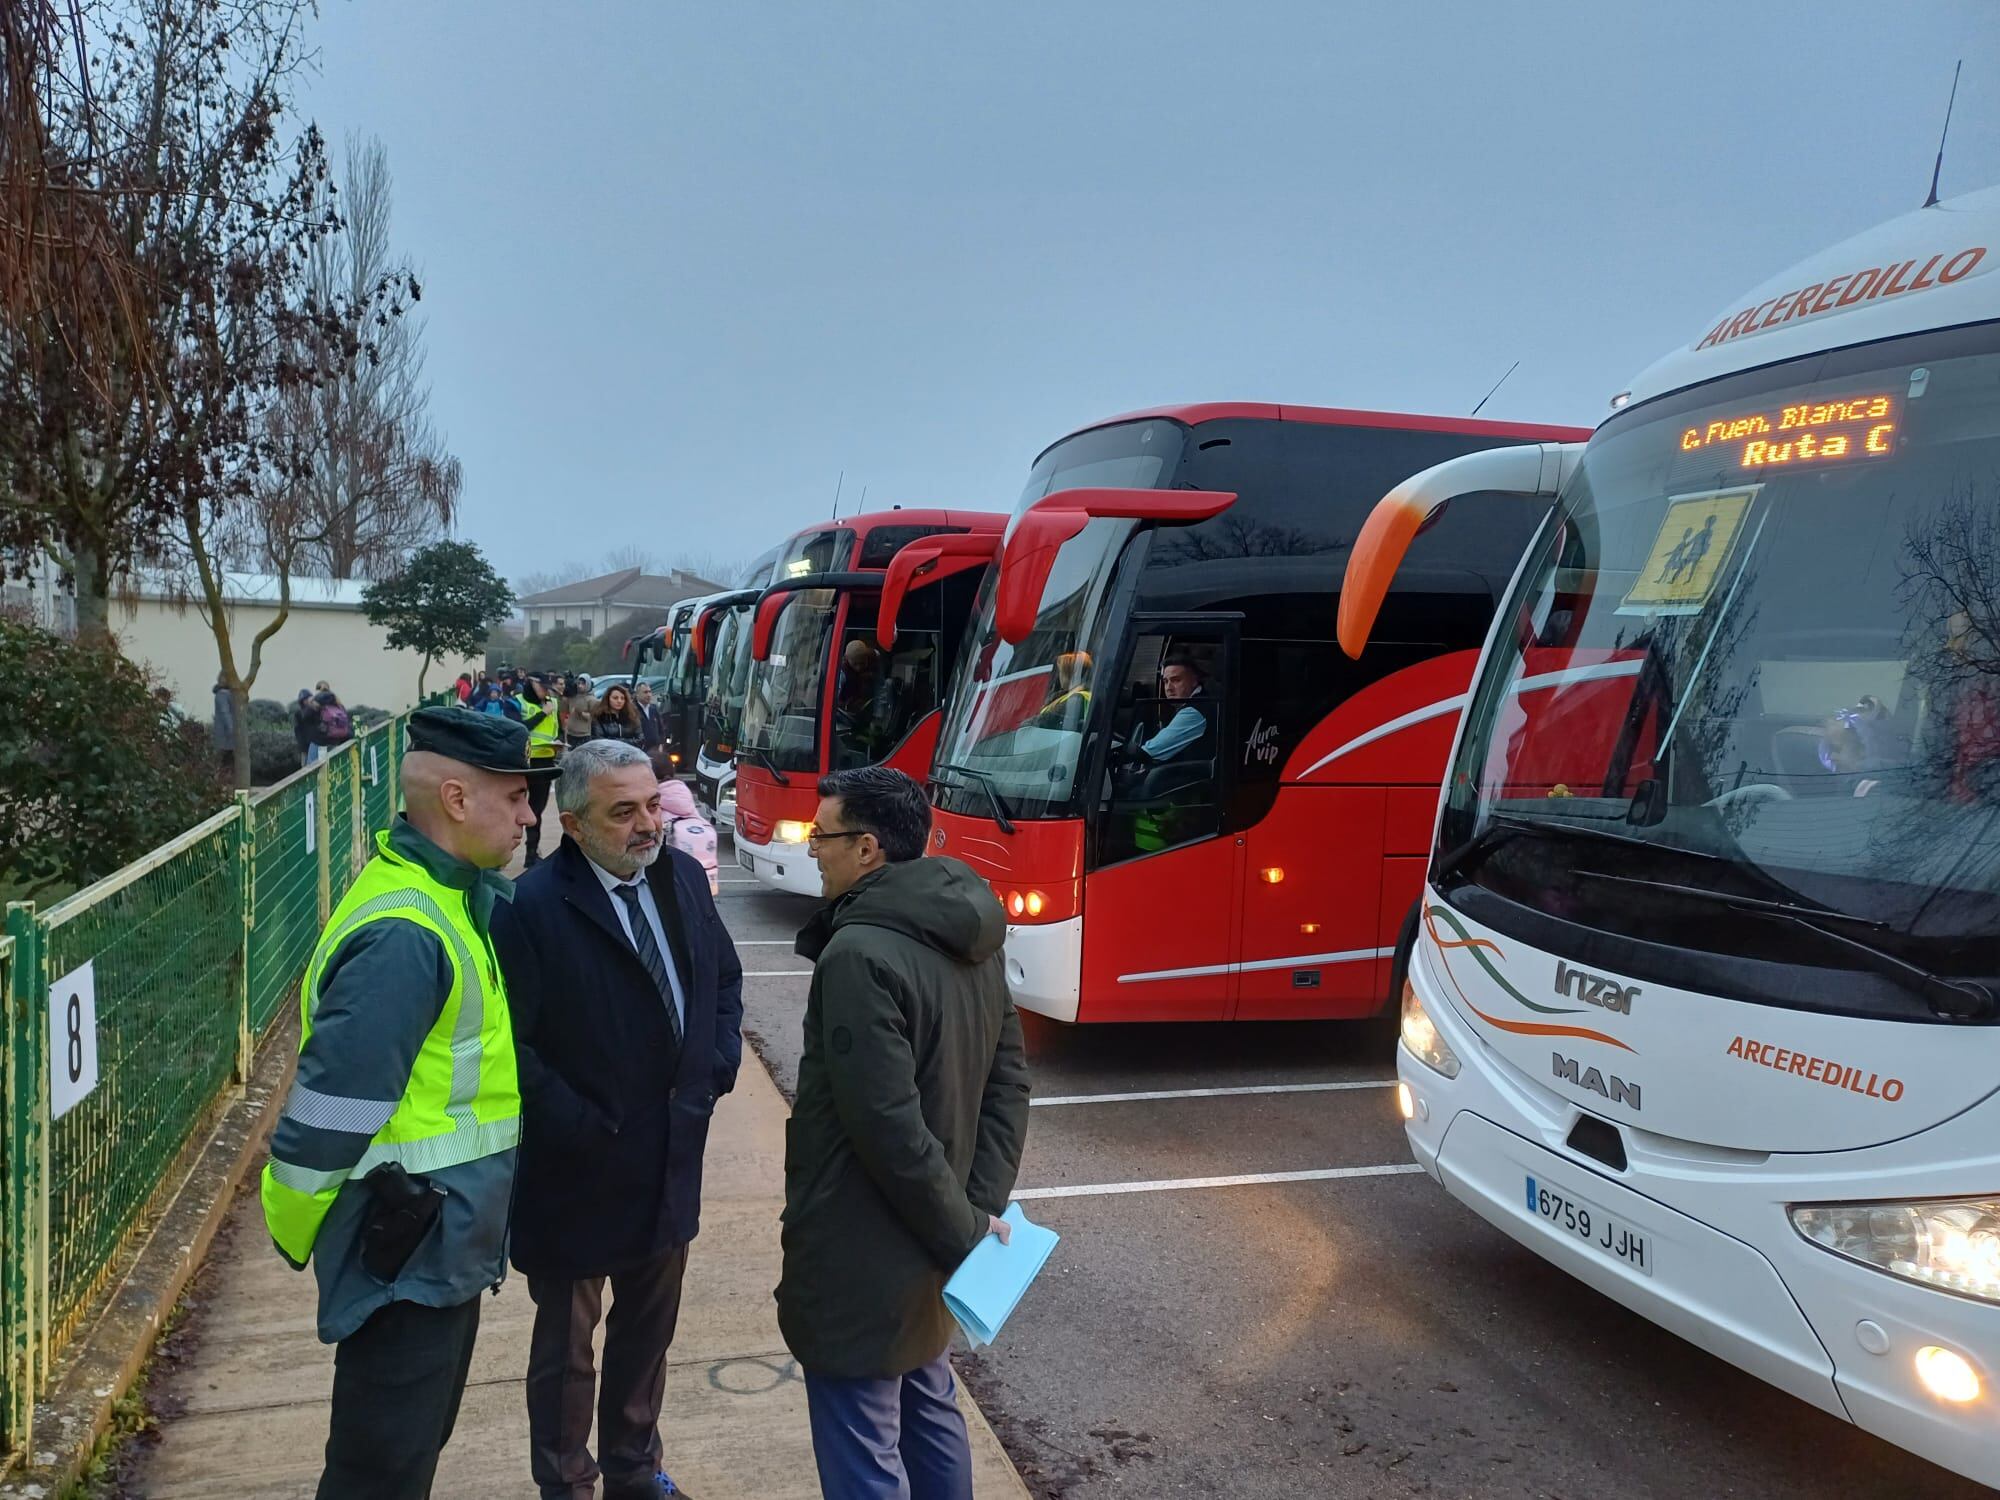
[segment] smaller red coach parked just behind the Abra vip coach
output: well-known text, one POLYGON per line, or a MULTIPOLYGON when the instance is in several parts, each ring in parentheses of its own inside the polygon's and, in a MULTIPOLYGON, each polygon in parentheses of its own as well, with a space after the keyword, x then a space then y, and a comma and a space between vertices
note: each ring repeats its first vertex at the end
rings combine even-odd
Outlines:
POLYGON ((896 626, 882 630, 890 564, 906 548, 930 558, 964 536, 998 542, 1004 524, 972 510, 884 510, 792 540, 756 606, 736 744, 736 862, 766 886, 820 894, 806 830, 824 772, 886 764, 922 780, 930 770, 980 574, 934 566, 936 582, 908 592, 896 626))

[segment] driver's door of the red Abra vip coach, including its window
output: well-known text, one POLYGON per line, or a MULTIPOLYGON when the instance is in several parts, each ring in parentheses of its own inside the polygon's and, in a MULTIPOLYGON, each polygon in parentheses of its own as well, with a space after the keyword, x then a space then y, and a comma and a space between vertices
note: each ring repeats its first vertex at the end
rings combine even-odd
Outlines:
MULTIPOLYGON (((1084 886, 1084 1020, 1228 1020, 1244 840, 1234 790, 1238 614, 1134 614, 1084 886)), ((1046 710, 1044 710, 1046 712, 1046 710)))

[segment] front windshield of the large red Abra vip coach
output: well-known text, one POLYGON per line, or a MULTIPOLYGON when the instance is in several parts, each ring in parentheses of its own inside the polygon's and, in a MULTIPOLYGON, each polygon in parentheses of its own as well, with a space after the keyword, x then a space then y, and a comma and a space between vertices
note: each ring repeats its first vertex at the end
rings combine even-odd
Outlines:
MULTIPOLYGON (((1060 442, 1028 474, 1014 516, 1054 490, 1162 488, 1174 476, 1182 438, 1180 424, 1154 420, 1060 442)), ((1130 520, 1092 520, 1064 542, 1034 630, 1018 646, 992 628, 998 574, 988 574, 980 588, 974 626, 952 672, 936 764, 980 772, 1016 818, 1060 818, 1074 810, 1104 602, 1134 528, 1130 520)), ((950 770, 934 778, 934 788, 948 812, 982 814, 990 806, 978 786, 954 780, 950 770)))

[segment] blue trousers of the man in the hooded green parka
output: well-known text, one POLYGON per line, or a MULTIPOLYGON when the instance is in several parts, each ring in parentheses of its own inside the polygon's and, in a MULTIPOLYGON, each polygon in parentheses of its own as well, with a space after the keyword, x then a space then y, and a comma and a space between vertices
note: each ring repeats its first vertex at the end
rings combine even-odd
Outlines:
POLYGON ((972 1500, 972 1440, 948 1356, 900 1380, 808 1370, 806 1410, 826 1500, 972 1500))

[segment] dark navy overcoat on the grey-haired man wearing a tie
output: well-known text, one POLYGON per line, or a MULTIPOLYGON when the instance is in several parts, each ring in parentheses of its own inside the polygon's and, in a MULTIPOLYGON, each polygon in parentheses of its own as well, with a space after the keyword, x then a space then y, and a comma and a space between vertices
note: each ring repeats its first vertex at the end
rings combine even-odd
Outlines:
POLYGON ((574 840, 494 918, 520 1058, 514 1264, 606 1276, 700 1226, 702 1146, 742 1062, 742 966, 702 866, 666 848, 646 872, 686 998, 676 1052, 666 1000, 574 840))

